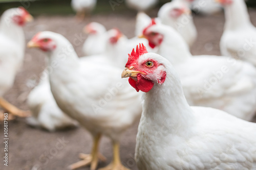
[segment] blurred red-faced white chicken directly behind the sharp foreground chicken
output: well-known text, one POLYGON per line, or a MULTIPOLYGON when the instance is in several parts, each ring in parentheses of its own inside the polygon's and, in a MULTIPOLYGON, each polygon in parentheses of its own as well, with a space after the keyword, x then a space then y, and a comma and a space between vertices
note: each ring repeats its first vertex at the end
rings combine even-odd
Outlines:
POLYGON ((188 103, 213 107, 245 120, 256 110, 256 69, 230 57, 192 56, 183 38, 171 27, 155 24, 145 28, 144 37, 157 54, 168 59, 181 78, 188 103))

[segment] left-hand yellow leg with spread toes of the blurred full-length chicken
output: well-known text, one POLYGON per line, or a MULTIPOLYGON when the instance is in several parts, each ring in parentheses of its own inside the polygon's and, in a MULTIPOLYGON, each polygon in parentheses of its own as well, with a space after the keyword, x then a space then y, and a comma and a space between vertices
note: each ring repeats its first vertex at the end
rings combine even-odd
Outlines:
POLYGON ((76 163, 73 163, 69 166, 70 169, 77 169, 82 166, 87 166, 91 164, 91 170, 95 170, 98 165, 98 159, 101 161, 105 161, 106 158, 98 152, 99 140, 101 134, 94 136, 93 138, 93 148, 90 155, 87 154, 79 154, 79 158, 83 159, 76 163))

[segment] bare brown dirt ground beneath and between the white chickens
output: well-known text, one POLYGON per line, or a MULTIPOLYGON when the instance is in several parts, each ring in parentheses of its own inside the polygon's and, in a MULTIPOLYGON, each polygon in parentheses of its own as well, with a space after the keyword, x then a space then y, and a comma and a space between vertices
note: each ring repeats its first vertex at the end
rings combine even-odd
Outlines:
MULTIPOLYGON (((251 20, 256 25, 256 17, 252 17, 256 15, 256 10, 250 9, 249 11, 251 20)), ((155 14, 156 11, 152 13, 152 16, 155 16, 155 14)), ((97 14, 89 20, 100 22, 107 29, 117 27, 130 38, 134 35, 134 13, 97 14)), ((73 42, 76 35, 80 33, 86 36, 82 33, 82 28, 89 20, 77 23, 73 16, 38 16, 35 17, 34 22, 25 27, 26 40, 28 42, 39 31, 49 30, 65 35, 73 42)), ((194 55, 220 55, 219 41, 224 26, 223 13, 216 16, 197 15, 194 21, 198 30, 198 39, 191 48, 191 52, 194 55)), ((82 55, 81 46, 82 43, 75 46, 79 56, 82 55)), ((26 50, 24 67, 17 74, 13 88, 5 95, 8 101, 19 108, 28 109, 26 96, 31 90, 27 86, 28 80, 38 78, 45 67, 44 57, 44 54, 38 52, 38 50, 26 50)), ((256 122, 255 118, 253 122, 256 122)), ((133 159, 137 125, 138 123, 123 135, 120 151, 123 164, 133 170, 137 169, 133 159)), ((0 125, 0 129, 2 129, 0 138, 3 139, 3 124, 0 125)), ((3 142, 0 143, 0 157, 2 157, 4 155, 4 144, 3 142)), ((25 119, 17 118, 9 122, 9 166, 3 165, 2 157, 0 169, 67 169, 68 165, 79 160, 78 154, 80 152, 90 153, 91 144, 90 134, 82 128, 49 133, 31 128, 25 124, 25 119), (59 150, 55 146, 58 138, 68 140, 68 143, 62 149, 58 148, 59 150)), ((99 164, 99 167, 103 167, 112 159, 111 142, 108 138, 101 140, 100 151, 108 159, 106 163, 99 164)), ((89 167, 80 169, 89 169, 89 167)))

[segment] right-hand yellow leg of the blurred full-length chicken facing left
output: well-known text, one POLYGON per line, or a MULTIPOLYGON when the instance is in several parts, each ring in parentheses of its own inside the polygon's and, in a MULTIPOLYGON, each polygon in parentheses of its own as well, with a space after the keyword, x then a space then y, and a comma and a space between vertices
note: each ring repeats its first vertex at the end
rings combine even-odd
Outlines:
POLYGON ((122 165, 119 155, 119 142, 113 142, 113 160, 112 162, 99 170, 130 170, 122 165))

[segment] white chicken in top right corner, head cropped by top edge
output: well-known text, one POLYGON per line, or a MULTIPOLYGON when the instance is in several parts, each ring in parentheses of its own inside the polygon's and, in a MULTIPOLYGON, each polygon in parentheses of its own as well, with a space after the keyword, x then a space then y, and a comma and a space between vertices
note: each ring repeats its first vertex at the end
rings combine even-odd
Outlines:
POLYGON ((256 28, 243 0, 218 0, 225 9, 225 28, 220 41, 221 54, 256 66, 256 28))

